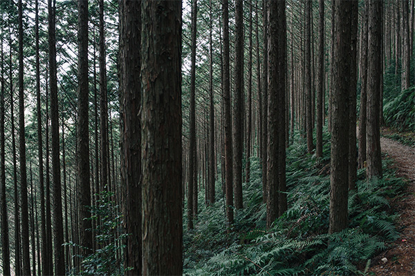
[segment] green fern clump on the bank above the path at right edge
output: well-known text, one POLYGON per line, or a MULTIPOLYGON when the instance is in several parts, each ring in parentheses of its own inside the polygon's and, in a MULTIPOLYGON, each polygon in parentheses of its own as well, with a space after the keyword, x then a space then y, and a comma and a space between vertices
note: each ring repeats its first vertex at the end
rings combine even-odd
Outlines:
POLYGON ((385 103, 385 121, 398 130, 415 130, 415 88, 400 92, 385 103))

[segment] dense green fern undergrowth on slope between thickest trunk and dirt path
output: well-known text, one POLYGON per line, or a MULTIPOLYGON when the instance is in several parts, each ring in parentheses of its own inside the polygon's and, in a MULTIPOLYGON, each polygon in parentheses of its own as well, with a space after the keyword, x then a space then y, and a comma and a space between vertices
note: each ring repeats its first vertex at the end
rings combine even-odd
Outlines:
MULTIPOLYGON (((261 168, 251 158, 251 180, 243 184, 243 210, 235 210, 227 234, 224 198, 213 206, 199 204, 195 230, 184 230, 185 275, 357 275, 365 273, 371 257, 398 238, 397 218, 390 200, 400 195, 403 181, 383 161, 384 177, 367 181, 358 171, 357 191, 349 193, 349 228, 328 235, 329 156, 306 154, 304 141, 287 150, 288 210, 266 230, 261 168)), ((218 179, 221 179, 220 175, 218 179)), ((216 182, 221 191, 221 183, 216 182)), ((203 202, 199 193, 199 202, 203 202)), ((187 221, 184 219, 184 228, 187 221)))

